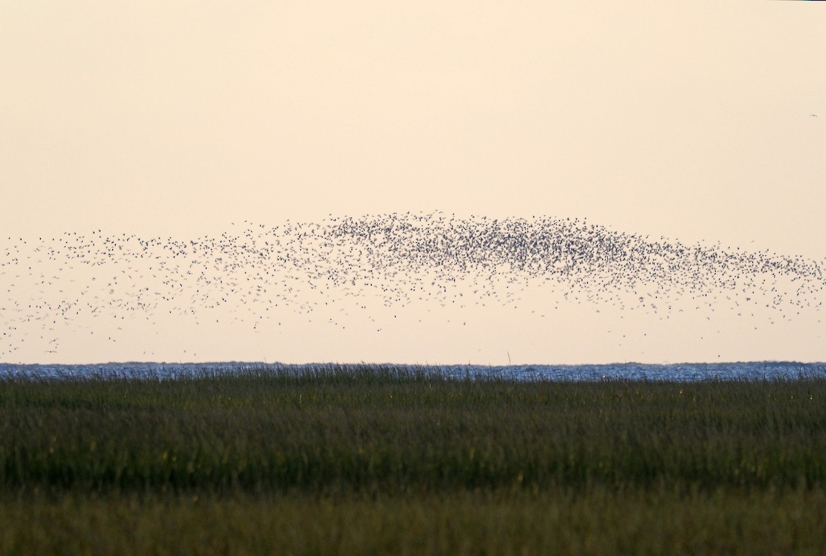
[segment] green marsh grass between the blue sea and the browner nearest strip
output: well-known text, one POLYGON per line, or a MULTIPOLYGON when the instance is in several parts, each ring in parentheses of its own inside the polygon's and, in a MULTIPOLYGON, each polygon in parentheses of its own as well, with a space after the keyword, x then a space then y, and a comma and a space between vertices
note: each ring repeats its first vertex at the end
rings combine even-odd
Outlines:
POLYGON ((826 381, 516 383, 251 372, 0 385, 0 486, 798 487, 826 381))

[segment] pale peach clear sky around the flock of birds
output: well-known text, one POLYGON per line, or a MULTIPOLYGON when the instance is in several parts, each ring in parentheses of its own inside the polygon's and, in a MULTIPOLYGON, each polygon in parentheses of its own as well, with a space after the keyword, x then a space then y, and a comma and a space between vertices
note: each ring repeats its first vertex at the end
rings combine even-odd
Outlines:
MULTIPOLYGON (((6 241, 99 229, 187 239, 240 221, 444 211, 572 217, 686 244, 826 259, 818 3, 0 6, 6 241)), ((462 342, 507 335, 488 358, 501 363, 528 329, 516 319, 507 333, 480 329, 462 342)), ((425 332, 400 329, 382 349, 363 335, 331 337, 339 347, 326 350, 299 335, 291 345, 303 347, 290 357, 468 359, 472 350, 437 346, 444 334, 425 332), (402 349, 411 337, 432 352, 402 349), (352 349, 358 338, 362 351, 352 349)), ((206 342, 198 337, 192 346, 206 342)), ((139 340, 60 357, 142 357, 139 340)), ((279 356, 244 341, 204 357, 279 356)), ((822 349, 778 342, 743 340, 728 355, 826 359, 822 349), (755 347, 766 342, 773 351, 755 347)), ((718 347, 669 353, 663 344, 646 356, 607 344, 598 354, 525 345, 520 360, 712 359, 718 347)), ((154 357, 184 357, 175 349, 154 357)))

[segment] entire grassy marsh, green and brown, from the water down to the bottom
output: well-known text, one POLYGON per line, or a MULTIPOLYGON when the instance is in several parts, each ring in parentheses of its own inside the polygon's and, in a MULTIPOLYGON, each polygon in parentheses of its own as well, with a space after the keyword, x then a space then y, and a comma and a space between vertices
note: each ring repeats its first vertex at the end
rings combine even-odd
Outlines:
POLYGON ((821 554, 826 378, 0 382, 0 554, 821 554))

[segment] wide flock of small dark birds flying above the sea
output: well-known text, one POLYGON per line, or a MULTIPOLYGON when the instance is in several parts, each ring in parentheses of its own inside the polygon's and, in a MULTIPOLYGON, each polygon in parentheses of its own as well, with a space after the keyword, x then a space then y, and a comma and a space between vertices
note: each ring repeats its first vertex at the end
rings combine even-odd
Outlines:
POLYGON ((321 307, 334 315, 331 325, 347 326, 368 298, 386 307, 486 307, 515 304, 525 288, 548 288, 597 311, 610 305, 667 316, 702 304, 794 318, 823 307, 824 265, 651 239, 586 221, 439 212, 244 222, 191 240, 102 230, 6 237, 0 238, 0 360, 26 342, 59 353, 66 326, 94 334, 96 322, 126 326, 170 316, 220 326, 231 314, 254 330, 287 313, 309 318, 321 307))

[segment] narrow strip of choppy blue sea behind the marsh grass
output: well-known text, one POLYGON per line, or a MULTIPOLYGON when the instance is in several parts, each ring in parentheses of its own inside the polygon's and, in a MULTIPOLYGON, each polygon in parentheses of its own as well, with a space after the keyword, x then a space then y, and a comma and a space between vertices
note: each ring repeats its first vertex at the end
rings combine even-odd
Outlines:
MULTIPOLYGON (((87 365, 0 364, 0 380, 33 378, 60 380, 68 378, 143 378, 168 380, 204 374, 244 373, 255 370, 282 370, 290 373, 345 371, 377 364, 265 364, 265 363, 107 363, 87 365)), ((761 361, 740 363, 681 364, 582 364, 582 365, 403 365, 389 364, 398 370, 416 369, 439 372, 452 378, 509 378, 520 381, 702 381, 702 380, 794 380, 826 377, 826 363, 761 361)))

